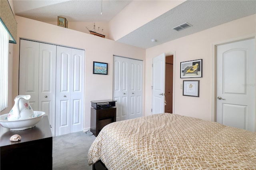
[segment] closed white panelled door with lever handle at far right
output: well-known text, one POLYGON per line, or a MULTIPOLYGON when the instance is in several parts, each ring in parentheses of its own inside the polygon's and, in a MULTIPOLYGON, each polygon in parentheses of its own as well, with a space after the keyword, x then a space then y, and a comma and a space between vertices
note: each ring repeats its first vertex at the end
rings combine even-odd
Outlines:
POLYGON ((218 123, 254 131, 255 39, 217 46, 218 123))

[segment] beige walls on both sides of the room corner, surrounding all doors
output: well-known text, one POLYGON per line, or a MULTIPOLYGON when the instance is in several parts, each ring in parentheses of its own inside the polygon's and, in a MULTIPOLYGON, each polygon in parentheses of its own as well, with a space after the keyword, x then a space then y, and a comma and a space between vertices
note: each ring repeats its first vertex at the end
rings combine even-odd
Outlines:
MULTIPOLYGON (((152 58, 161 53, 174 54, 174 113, 212 121, 214 45, 254 37, 256 34, 256 15, 252 15, 144 50, 27 18, 16 16, 16 20, 18 22, 18 38, 86 50, 85 129, 90 128, 90 101, 112 99, 113 55, 144 60, 144 115, 150 115, 152 108, 152 58), (182 96, 182 89, 180 89, 182 81, 188 80, 180 79, 180 62, 194 59, 203 59, 203 77, 191 78, 200 80, 199 98, 182 96), (109 74, 93 75, 92 61, 109 63, 109 74)), ((19 41, 13 48, 12 100, 18 95, 19 41)), ((10 110, 5 109, 4 111, 8 113, 10 110)))

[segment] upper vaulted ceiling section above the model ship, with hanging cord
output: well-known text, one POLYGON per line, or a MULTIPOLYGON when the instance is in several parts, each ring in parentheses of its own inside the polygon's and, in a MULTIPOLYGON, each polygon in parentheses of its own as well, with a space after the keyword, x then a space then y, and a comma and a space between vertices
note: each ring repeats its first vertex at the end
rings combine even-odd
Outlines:
POLYGON ((69 22, 109 22, 130 0, 13 0, 18 16, 55 22, 56 16, 69 22), (102 8, 101 8, 102 7, 102 8), (101 15, 102 14, 104 15, 101 15))

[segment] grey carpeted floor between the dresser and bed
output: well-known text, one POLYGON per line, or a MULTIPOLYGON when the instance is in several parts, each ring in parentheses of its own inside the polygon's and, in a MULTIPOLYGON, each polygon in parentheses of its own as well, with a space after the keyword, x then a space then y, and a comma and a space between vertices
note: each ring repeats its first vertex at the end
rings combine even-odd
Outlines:
POLYGON ((53 170, 92 170, 88 165, 88 150, 96 137, 83 131, 52 138, 53 170))

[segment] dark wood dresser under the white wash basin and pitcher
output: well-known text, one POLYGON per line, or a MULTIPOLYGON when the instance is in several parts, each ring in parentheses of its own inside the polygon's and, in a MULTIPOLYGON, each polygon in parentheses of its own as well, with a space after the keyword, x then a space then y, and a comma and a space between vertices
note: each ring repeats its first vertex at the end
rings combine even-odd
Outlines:
POLYGON ((52 170, 52 132, 47 116, 35 127, 11 131, 0 126, 0 169, 52 170), (19 134, 21 140, 10 141, 19 134))

